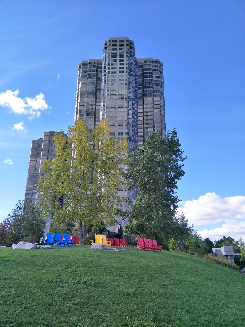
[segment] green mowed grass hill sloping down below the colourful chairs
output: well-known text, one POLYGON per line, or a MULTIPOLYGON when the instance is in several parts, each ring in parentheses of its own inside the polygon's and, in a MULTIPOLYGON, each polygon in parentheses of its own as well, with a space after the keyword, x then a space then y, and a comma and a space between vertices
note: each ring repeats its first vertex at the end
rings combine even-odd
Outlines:
POLYGON ((0 326, 244 326, 245 276, 162 251, 0 249, 0 326))

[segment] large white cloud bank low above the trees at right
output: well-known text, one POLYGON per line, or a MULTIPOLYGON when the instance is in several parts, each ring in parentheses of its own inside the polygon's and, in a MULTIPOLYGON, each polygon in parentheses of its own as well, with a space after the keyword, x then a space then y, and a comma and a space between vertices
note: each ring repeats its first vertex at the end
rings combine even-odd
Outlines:
POLYGON ((221 198, 213 193, 206 193, 197 200, 181 201, 178 214, 184 213, 188 223, 197 226, 221 224, 215 229, 199 231, 203 238, 212 240, 222 236, 232 236, 235 239, 245 237, 245 196, 221 198))

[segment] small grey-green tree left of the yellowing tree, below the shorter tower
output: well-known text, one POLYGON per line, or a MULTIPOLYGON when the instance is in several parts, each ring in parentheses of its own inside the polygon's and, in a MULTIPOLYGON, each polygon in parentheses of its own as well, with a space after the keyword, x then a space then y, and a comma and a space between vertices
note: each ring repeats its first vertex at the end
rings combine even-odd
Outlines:
POLYGON ((45 219, 40 219, 40 210, 32 198, 26 197, 15 204, 8 215, 8 238, 11 243, 34 242, 43 236, 45 219))

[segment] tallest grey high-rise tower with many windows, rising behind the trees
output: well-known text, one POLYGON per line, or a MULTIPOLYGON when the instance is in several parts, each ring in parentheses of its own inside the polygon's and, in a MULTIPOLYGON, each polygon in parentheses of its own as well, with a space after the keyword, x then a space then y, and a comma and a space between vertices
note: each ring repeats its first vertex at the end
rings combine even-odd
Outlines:
MULTIPOLYGON (((106 117, 110 134, 124 136, 135 151, 150 132, 166 134, 163 63, 136 58, 134 42, 127 37, 108 38, 103 58, 83 60, 78 65, 74 124, 83 117, 89 128, 106 117)), ((126 167, 125 167, 126 168, 126 167)), ((120 186, 120 197, 136 198, 135 190, 120 186)), ((128 209, 127 203, 118 208, 128 209)), ((122 217, 116 217, 123 225, 122 217)), ((112 230, 112 228, 110 228, 112 230)))

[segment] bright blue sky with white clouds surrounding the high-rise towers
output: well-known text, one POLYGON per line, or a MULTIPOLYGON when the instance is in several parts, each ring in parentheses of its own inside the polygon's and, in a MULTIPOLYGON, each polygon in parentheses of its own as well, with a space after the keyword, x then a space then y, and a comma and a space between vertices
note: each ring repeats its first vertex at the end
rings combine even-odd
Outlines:
POLYGON ((24 197, 31 141, 74 123, 78 63, 122 36, 163 61, 166 128, 188 156, 179 212, 203 237, 245 238, 244 1, 0 4, 0 221, 24 197))

